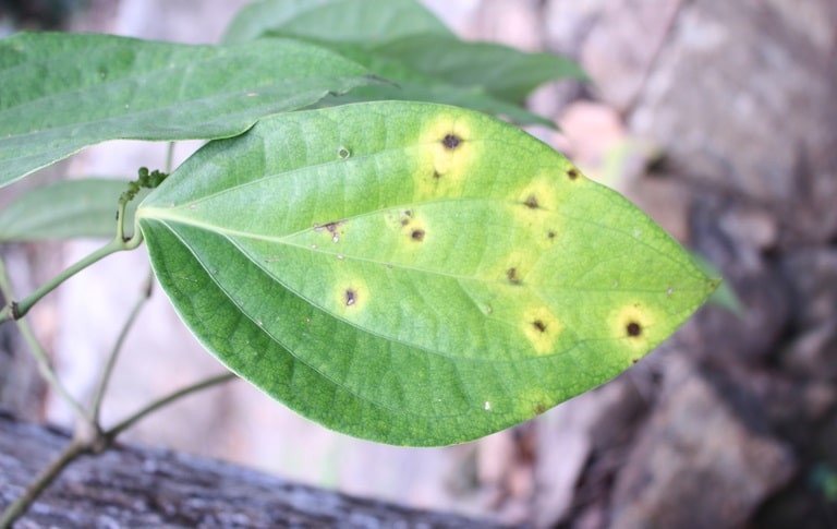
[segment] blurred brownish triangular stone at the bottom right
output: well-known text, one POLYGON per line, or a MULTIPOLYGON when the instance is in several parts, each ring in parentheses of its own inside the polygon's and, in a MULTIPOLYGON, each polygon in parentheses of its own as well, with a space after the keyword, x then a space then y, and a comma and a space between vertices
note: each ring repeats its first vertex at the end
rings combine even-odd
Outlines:
POLYGON ((659 406, 619 473, 609 527, 740 527, 790 479, 788 448, 748 428, 689 362, 669 365, 659 406))

